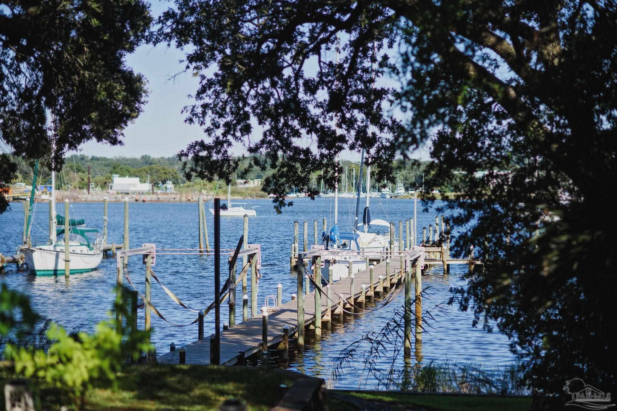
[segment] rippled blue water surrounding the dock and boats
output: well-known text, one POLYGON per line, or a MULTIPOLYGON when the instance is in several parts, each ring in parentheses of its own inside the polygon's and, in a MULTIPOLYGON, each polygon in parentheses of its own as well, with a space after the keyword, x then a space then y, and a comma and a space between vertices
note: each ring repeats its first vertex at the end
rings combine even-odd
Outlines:
MULTIPOLYGON (((362 199, 364 205, 365 199, 362 199)), ((434 207, 439 206, 436 201, 434 207)), ((289 271, 289 252, 293 240, 294 220, 300 221, 300 248, 302 248, 302 221, 309 221, 309 245, 313 243, 313 220, 318 220, 318 230, 321 230, 321 219, 328 218, 328 225, 333 222, 333 198, 318 198, 311 201, 308 198, 298 198, 294 206, 286 208, 283 214, 276 214, 270 200, 252 200, 248 206, 259 206, 258 216, 249 219, 249 243, 259 243, 262 246, 262 279, 259 285, 258 306, 263 305, 266 295, 276 294, 276 285, 283 285, 283 301, 296 291, 296 273, 289 271)), ((423 213, 423 207, 418 201, 418 229, 428 224, 434 224, 435 213, 423 213)), ((350 226, 352 213, 355 210, 355 199, 339 199, 339 225, 342 229, 350 226)), ((72 218, 85 218, 88 226, 102 230, 102 203, 73 203, 72 218)), ((207 224, 210 232, 210 245, 213 246, 213 216, 207 211, 207 224)), ((129 205, 130 216, 130 246, 135 248, 142 243, 155 243, 157 248, 196 248, 198 246, 197 203, 135 203, 129 205)), ((413 217, 413 200, 385 200, 371 198, 371 218, 382 218, 398 221, 413 217)), ((38 203, 35 209, 35 225, 32 237, 41 242, 47 237, 48 204, 38 203)), ((15 247, 20 244, 23 230, 23 211, 20 203, 12 203, 12 209, 0 215, 0 250, 4 254, 14 254, 15 247)), ((109 203, 109 240, 122 243, 123 204, 109 203)), ((454 230, 454 235, 457 234, 454 230)), ((241 218, 222 218, 221 242, 223 248, 233 248, 242 235, 241 218)), ((397 236, 398 237, 398 236, 397 236)), ((223 258, 224 260, 225 258, 223 258)), ((225 264, 223 262, 223 264, 225 264)), ((141 293, 144 293, 144 266, 141 257, 132 257, 129 261, 129 273, 141 293)), ((204 256, 157 256, 153 267, 161 282, 170 288, 189 307, 201 309, 213 300, 213 257, 204 256)), ((222 272, 226 271, 222 269, 222 272)), ((442 311, 433 309, 434 320, 424 334, 421 354, 423 360, 472 362, 477 365, 491 367, 503 365, 515 360, 508 351, 508 339, 499 333, 487 334, 481 329, 472 328, 473 314, 460 312, 457 307, 447 306, 451 287, 465 286, 463 275, 465 265, 453 265, 451 274, 442 275, 441 267, 428 271, 423 277, 423 287, 429 288, 429 296, 424 299, 424 309, 441 304, 442 311)), ((222 274, 226 277, 226 274, 222 274)), ((221 283, 223 283, 224 279, 221 283)), ((99 269, 85 274, 71 275, 65 282, 64 275, 59 277, 41 277, 16 272, 14 266, 6 268, 6 273, 0 277, 0 282, 6 283, 12 290, 20 291, 30 296, 35 309, 44 317, 50 318, 68 329, 80 328, 92 332, 94 325, 106 319, 114 301, 115 294, 115 259, 105 259, 99 269)), ((125 282, 126 283, 126 282, 125 282)), ((249 282, 250 287, 250 282, 249 282)), ((241 292, 238 291, 239 307, 236 317, 241 320, 241 292)), ((362 317, 347 319, 344 324, 333 323, 331 332, 324 332, 321 343, 310 339, 309 349, 302 355, 290 353, 288 367, 301 370, 310 375, 328 378, 334 361, 341 349, 353 341, 359 340, 370 331, 378 331, 387 320, 392 318, 394 309, 402 306, 404 293, 400 293, 394 303, 376 312, 370 312, 362 317)), ((188 324, 195 318, 193 312, 186 311, 175 304, 155 282, 152 285, 152 303, 176 324, 188 324)), ((223 308, 222 322, 227 320, 227 310, 223 308)), ((139 324, 143 324, 143 310, 139 324)), ((425 317, 426 318, 426 317, 425 317)), ((213 333, 213 312, 206 317, 205 334, 213 333)), ((158 352, 165 352, 172 341, 176 346, 197 339, 197 326, 176 328, 152 316, 152 342, 158 352)), ((378 365, 387 367, 390 357, 381 359, 378 365)), ((402 358, 397 364, 402 367, 402 358)), ((349 367, 346 375, 335 386, 355 387, 358 380, 365 377, 360 362, 349 367)), ((366 385, 371 388, 371 381, 366 385)))

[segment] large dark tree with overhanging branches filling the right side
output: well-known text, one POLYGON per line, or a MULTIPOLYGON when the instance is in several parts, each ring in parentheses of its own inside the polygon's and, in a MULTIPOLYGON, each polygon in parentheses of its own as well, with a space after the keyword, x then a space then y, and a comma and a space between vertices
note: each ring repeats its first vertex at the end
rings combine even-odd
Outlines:
POLYGON ((474 222, 457 250, 484 261, 453 302, 495 320, 534 393, 562 406, 565 380, 617 369, 615 216, 598 218, 617 170, 616 13, 596 0, 176 0, 155 41, 186 47, 200 79, 186 113, 207 138, 181 153, 189 177, 229 179, 242 142, 275 168, 270 192, 312 192, 310 173, 333 182, 343 149, 368 150, 388 177, 396 153, 432 140, 435 181, 467 173, 468 197, 449 204, 452 224, 474 222), (485 168, 509 171, 473 178, 485 168))

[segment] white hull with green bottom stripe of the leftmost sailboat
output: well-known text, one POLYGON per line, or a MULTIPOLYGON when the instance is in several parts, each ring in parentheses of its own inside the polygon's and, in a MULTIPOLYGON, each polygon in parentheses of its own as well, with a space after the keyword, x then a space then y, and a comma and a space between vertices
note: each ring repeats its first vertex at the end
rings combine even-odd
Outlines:
MULTIPOLYGON (((95 270, 103 258, 103 252, 86 251, 87 248, 70 248, 70 262, 68 269, 70 274, 95 270)), ((58 250, 53 246, 41 246, 28 248, 23 251, 26 264, 31 272, 36 275, 54 275, 64 272, 64 248, 58 250)))

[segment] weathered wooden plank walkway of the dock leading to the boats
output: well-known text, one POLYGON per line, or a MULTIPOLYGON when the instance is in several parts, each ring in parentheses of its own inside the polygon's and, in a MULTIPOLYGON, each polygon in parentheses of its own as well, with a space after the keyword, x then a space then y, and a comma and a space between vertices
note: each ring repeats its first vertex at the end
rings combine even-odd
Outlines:
MULTIPOLYGON (((417 258, 417 257, 416 257, 417 258)), ((389 278, 390 284, 388 288, 400 287, 404 278, 400 275, 400 259, 393 257, 389 264, 389 276, 386 276, 386 261, 376 264, 373 272, 373 288, 376 294, 379 294, 379 275, 383 279, 389 278)), ((321 296, 321 313, 322 322, 331 321, 331 315, 342 314, 341 305, 346 310, 350 310, 345 302, 341 302, 339 295, 346 299, 352 295, 351 293, 352 279, 346 277, 330 285, 332 288, 331 299, 329 301, 325 295, 321 296), (334 292, 336 291, 336 292, 334 292), (338 295, 337 295, 338 294, 338 295), (331 315, 328 317, 328 307, 331 309, 331 315)), ((364 306, 362 301, 362 285, 365 285, 366 301, 372 300, 373 292, 371 291, 370 269, 364 269, 354 275, 354 302, 357 306, 364 306), (360 304, 360 305, 358 305, 360 304)), ((322 287, 325 291, 326 288, 322 287)), ((383 293, 383 291, 381 291, 383 293)), ((297 321, 297 301, 291 300, 280 305, 280 310, 268 314, 268 347, 278 346, 285 337, 284 327, 289 327, 289 337, 291 338, 298 331, 297 321)), ((352 315, 352 314, 347 314, 352 315)), ((356 314, 354 314, 356 315, 356 314)), ((305 294, 304 296, 304 319, 305 327, 315 322, 315 292, 305 294)), ((220 344, 220 364, 233 365, 241 363, 246 357, 251 356, 262 350, 262 315, 256 315, 251 319, 241 322, 236 327, 223 330, 221 332, 220 344)), ((171 342, 171 341, 170 341, 171 342)), ((178 364, 180 359, 179 350, 170 351, 158 357, 159 362, 178 364)), ((204 340, 197 340, 193 343, 184 345, 186 349, 186 364, 210 364, 210 339, 206 336, 204 340)))

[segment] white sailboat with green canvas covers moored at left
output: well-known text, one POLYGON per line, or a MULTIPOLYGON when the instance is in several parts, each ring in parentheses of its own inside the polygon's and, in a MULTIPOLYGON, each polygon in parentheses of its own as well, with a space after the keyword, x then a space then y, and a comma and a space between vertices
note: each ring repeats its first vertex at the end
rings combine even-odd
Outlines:
MULTIPOLYGON (((49 243, 39 246, 22 246, 28 269, 37 275, 53 275, 64 272, 65 244, 64 227, 57 228, 58 220, 64 217, 56 214, 56 172, 51 172, 52 190, 49 206, 51 213, 51 230, 49 243)), ((32 194, 34 195, 34 193, 32 194)), ((66 200, 68 201, 68 200, 66 200)), ((96 269, 103 258, 102 238, 97 229, 79 227, 83 220, 70 220, 68 230, 69 272, 88 272, 96 269)), ((29 229, 29 227, 27 227, 29 229)), ((28 230, 27 230, 28 232, 28 230)))

